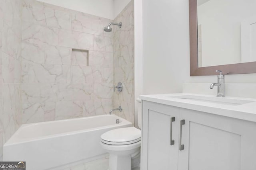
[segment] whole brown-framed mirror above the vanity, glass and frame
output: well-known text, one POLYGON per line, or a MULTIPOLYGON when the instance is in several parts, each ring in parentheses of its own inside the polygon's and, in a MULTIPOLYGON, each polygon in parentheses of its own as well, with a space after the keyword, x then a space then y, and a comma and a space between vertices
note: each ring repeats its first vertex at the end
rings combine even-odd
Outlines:
POLYGON ((256 73, 256 0, 189 0, 190 76, 256 73))

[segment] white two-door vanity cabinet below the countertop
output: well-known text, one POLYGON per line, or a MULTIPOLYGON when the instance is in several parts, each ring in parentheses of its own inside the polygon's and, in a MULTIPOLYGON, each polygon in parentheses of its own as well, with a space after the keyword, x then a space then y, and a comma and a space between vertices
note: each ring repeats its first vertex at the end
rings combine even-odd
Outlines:
POLYGON ((143 100, 142 170, 255 170, 255 130, 254 122, 143 100))

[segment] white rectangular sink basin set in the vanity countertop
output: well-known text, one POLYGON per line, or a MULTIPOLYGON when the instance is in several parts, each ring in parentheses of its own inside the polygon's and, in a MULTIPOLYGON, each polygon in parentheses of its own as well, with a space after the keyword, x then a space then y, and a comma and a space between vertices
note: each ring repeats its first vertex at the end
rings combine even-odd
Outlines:
POLYGON ((230 98, 219 98, 219 97, 208 97, 208 96, 196 96, 196 95, 181 95, 181 96, 168 96, 168 98, 178 98, 186 101, 198 101, 207 102, 215 104, 225 104, 231 106, 237 106, 241 104, 247 104, 250 102, 255 102, 253 100, 240 100, 240 99, 230 99, 230 98))

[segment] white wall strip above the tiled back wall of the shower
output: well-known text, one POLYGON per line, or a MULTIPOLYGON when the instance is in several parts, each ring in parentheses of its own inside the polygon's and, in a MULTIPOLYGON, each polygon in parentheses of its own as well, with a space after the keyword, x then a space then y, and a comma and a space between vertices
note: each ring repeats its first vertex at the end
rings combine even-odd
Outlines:
POLYGON ((114 20, 113 0, 38 0, 72 10, 114 20))

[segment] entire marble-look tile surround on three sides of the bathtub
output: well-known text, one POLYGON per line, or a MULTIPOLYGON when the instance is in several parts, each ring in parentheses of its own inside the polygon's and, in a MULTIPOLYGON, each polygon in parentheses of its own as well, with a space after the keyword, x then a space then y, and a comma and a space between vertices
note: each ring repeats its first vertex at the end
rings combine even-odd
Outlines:
MULTIPOLYGON (((114 112, 134 123, 133 1, 122 28, 35 0, 0 0, 0 155, 22 125, 114 112), (122 82, 123 92, 113 92, 122 82)), ((0 160, 2 156, 0 157, 0 160)))

